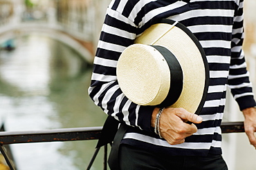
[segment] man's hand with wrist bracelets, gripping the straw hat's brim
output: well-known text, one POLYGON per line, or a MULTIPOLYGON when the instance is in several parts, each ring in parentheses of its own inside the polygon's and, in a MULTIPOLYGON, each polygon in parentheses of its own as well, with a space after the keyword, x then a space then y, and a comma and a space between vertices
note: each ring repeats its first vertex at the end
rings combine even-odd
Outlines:
MULTIPOLYGON (((155 108, 152 114, 151 125, 154 127, 156 114, 159 108, 155 108)), ((185 138, 191 136, 197 131, 194 124, 201 123, 203 118, 196 114, 192 114, 182 108, 165 108, 161 114, 159 127, 160 134, 170 145, 177 145, 185 142, 185 138)))

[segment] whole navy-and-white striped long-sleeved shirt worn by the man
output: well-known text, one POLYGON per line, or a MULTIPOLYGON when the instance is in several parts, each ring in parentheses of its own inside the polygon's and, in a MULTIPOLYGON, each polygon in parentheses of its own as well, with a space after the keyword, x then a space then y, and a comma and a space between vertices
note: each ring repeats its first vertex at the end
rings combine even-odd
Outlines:
POLYGON ((89 95, 103 111, 129 129, 122 143, 169 155, 221 154, 221 119, 230 87, 239 108, 255 106, 246 71, 243 0, 113 0, 95 54, 89 95), (132 103, 120 90, 116 65, 120 54, 150 25, 179 21, 199 39, 210 68, 210 86, 201 110, 203 123, 180 145, 169 145, 150 126, 152 106, 132 103))

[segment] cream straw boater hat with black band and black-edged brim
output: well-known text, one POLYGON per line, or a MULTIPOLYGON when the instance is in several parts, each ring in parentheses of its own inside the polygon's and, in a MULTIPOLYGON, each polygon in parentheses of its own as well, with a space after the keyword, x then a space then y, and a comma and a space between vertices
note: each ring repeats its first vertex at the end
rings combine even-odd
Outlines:
POLYGON ((199 114, 208 92, 209 68, 194 34, 164 19, 122 52, 117 77, 122 92, 138 105, 182 107, 199 114))

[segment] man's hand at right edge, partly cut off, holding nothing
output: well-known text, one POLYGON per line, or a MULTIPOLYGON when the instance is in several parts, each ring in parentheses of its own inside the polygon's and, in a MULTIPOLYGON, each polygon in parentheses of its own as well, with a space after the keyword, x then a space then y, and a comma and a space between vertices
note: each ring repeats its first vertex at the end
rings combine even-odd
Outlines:
POLYGON ((250 140, 250 144, 256 149, 256 108, 250 107, 242 110, 244 114, 244 130, 250 140))

